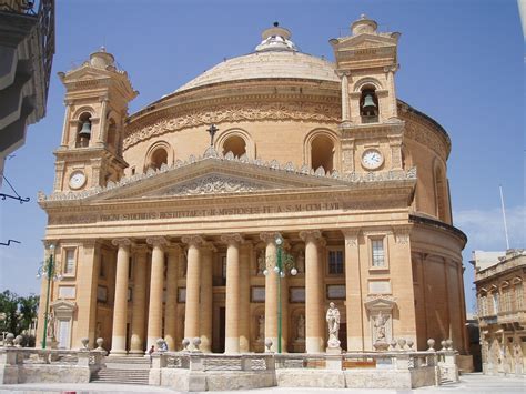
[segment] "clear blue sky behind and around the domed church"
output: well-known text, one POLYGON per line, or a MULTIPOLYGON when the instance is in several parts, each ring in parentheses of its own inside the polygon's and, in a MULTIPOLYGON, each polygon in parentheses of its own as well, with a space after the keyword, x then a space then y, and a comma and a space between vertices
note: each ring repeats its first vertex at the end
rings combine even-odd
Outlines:
MULTIPOLYGON (((140 95, 130 113, 173 92, 224 58, 253 51, 274 21, 302 52, 334 60, 328 40, 347 36, 365 13, 380 31, 399 31, 397 97, 441 123, 452 140, 448 179, 454 225, 464 231, 466 306, 474 306, 473 250, 525 247, 525 58, 515 0, 58 0, 57 53, 48 113, 28 129, 4 175, 29 203, 0 201, 0 291, 39 292, 49 194, 60 144, 64 88, 57 77, 101 46, 128 71, 140 95)), ((13 194, 7 182, 2 193, 13 194)))

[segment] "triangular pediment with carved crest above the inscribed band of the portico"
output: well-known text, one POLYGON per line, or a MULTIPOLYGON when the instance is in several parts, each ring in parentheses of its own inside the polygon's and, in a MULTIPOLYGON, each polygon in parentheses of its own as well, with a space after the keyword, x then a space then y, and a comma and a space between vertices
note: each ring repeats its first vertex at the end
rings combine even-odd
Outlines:
POLYGON ((254 193, 317 192, 333 189, 371 189, 387 184, 404 184, 411 190, 416 182, 416 169, 371 173, 340 174, 314 171, 307 165, 295 168, 292 163, 280 164, 273 160, 237 159, 233 156, 204 155, 178 161, 171 166, 122 178, 109 182, 105 188, 93 188, 80 192, 39 194, 42 206, 54 202, 118 202, 158 201, 189 199, 195 196, 229 196, 254 193))

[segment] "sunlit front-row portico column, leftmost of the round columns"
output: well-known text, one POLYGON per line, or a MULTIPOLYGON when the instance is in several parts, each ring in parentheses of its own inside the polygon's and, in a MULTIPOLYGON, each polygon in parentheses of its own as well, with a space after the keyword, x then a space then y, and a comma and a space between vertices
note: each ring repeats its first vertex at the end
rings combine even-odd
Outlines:
POLYGON ((131 241, 117 239, 111 242, 119 246, 117 251, 115 300, 113 302, 113 329, 110 355, 127 354, 128 321, 128 270, 131 241))

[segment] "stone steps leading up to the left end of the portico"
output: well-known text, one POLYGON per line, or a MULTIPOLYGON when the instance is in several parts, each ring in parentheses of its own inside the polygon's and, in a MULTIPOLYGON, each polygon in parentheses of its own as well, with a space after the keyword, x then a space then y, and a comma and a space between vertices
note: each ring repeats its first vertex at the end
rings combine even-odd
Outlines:
POLYGON ((93 373, 93 383, 148 384, 150 357, 105 357, 105 367, 93 373))

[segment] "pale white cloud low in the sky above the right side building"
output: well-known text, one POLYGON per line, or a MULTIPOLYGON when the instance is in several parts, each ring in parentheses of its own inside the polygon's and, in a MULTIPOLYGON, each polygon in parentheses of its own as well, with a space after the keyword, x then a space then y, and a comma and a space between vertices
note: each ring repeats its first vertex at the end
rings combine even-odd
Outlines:
MULTIPOLYGON (((453 213, 454 225, 467 235, 466 250, 504 251, 503 212, 499 208, 492 210, 466 210, 453 213)), ((506 210, 509 246, 523 249, 525 242, 526 208, 513 206, 506 210)))

